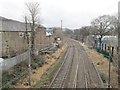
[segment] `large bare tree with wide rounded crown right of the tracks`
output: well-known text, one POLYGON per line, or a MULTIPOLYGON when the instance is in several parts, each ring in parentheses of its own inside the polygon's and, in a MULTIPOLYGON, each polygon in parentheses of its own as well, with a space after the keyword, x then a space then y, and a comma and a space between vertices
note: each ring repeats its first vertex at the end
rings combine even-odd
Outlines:
POLYGON ((91 24, 97 30, 95 33, 99 35, 100 47, 101 47, 101 39, 105 35, 109 35, 112 30, 114 30, 114 26, 112 24, 113 16, 110 15, 103 15, 99 16, 98 18, 94 19, 91 24))

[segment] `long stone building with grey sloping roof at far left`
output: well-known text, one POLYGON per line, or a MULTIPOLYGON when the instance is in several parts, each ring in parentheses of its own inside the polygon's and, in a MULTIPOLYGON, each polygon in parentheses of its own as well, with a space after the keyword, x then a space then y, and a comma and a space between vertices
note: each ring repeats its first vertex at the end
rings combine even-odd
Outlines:
MULTIPOLYGON (((24 37, 26 32, 25 24, 4 17, 0 17, 0 22, 0 34, 2 37, 2 55, 0 57, 12 57, 25 52, 28 49, 27 39, 24 37)), ((30 27, 28 31, 30 32, 30 27)))

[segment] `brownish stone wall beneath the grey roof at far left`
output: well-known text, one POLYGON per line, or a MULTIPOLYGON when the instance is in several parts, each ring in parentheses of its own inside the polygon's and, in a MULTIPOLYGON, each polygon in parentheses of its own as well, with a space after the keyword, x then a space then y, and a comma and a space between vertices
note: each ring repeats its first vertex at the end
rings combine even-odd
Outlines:
POLYGON ((27 50, 27 42, 24 32, 1 32, 2 33, 2 56, 11 57, 27 50))

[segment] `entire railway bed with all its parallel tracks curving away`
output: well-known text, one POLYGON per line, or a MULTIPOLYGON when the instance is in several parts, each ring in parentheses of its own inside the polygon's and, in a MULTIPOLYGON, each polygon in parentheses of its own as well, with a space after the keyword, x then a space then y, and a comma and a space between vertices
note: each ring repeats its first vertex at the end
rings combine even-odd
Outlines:
POLYGON ((83 46, 74 40, 69 40, 68 45, 64 62, 49 88, 104 88, 102 79, 83 46))

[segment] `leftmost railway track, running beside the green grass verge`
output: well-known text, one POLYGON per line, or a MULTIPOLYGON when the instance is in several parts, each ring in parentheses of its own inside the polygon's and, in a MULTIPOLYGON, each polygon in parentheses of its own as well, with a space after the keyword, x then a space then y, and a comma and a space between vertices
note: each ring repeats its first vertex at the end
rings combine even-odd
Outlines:
POLYGON ((64 81, 68 75, 72 60, 73 60, 73 51, 74 46, 70 45, 68 47, 68 51, 64 57, 64 61, 61 64, 60 68, 58 69, 55 77, 53 78, 51 84, 49 85, 49 88, 63 88, 64 87, 64 81))

